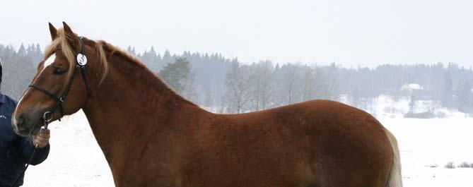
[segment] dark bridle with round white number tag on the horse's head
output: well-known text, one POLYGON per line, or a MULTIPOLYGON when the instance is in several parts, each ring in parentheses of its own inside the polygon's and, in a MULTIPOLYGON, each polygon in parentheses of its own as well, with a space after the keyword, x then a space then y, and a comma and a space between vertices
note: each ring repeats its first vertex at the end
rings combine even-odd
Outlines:
MULTIPOLYGON (((86 85, 87 97, 90 97, 90 92, 89 92, 89 88, 88 88, 88 81, 87 81, 87 78, 86 78, 87 59, 86 59, 85 50, 84 50, 85 44, 83 42, 83 37, 78 37, 78 40, 81 42, 81 52, 79 52, 77 54, 76 67, 74 67, 74 72, 72 73, 72 77, 69 80, 69 83, 66 87, 66 90, 64 90, 64 92, 62 92, 61 97, 58 97, 57 95, 53 94, 52 92, 49 92, 48 90, 46 90, 44 88, 41 88, 39 85, 36 85, 34 83, 31 84, 31 85, 28 85, 28 87, 35 88, 36 90, 39 90, 39 91, 45 93, 46 95, 49 95, 49 97, 52 97, 54 100, 56 100, 56 104, 54 104, 54 106, 51 109, 49 109, 48 111, 45 112, 45 114, 42 115, 42 119, 45 121, 45 126, 47 126, 51 122, 52 114, 54 114, 54 111, 56 111, 57 108, 61 109, 61 116, 64 116, 64 107, 62 107, 62 103, 64 101, 66 101, 67 95, 69 94, 69 91, 71 91, 72 84, 74 83, 74 80, 76 79, 77 73, 79 71, 81 71, 82 79, 83 79, 83 81, 86 85), (83 59, 81 59, 81 61, 80 61, 79 59, 81 57, 83 59), (85 63, 83 61, 84 59, 85 59, 85 63)), ((59 50, 62 50, 62 49, 61 48, 56 49, 56 51, 59 51, 59 50)), ((60 120, 61 119, 59 118, 59 121, 60 120)))

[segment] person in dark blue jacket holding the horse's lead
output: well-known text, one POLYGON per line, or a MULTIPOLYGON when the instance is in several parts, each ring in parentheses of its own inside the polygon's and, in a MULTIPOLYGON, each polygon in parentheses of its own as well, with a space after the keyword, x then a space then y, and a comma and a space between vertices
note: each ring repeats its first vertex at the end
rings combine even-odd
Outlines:
MULTIPOLYGON (((1 62, 0 62, 1 86, 1 62)), ((0 92, 0 187, 10 187, 25 168, 26 162, 35 150, 35 156, 28 164, 36 165, 45 161, 49 154, 49 130, 42 129, 38 135, 22 137, 13 131, 11 114, 17 102, 0 92)), ((23 176, 16 186, 23 185, 23 176)))

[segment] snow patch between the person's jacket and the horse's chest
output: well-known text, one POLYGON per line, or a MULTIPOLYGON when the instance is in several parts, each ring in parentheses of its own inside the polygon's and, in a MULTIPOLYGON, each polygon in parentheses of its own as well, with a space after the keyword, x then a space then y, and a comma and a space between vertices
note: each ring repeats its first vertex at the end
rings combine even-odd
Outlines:
POLYGON ((114 186, 112 173, 82 111, 49 124, 49 157, 28 168, 23 186, 114 186))

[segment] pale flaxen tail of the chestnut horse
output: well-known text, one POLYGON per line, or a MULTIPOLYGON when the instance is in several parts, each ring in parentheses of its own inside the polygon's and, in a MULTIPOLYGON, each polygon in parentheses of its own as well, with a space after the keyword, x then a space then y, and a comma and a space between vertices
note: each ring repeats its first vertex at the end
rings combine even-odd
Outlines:
POLYGON ((387 179, 387 187, 402 187, 401 158, 399 155, 399 147, 397 147, 397 140, 390 131, 385 129, 385 132, 387 138, 390 139, 392 147, 392 165, 390 170, 390 176, 387 179))

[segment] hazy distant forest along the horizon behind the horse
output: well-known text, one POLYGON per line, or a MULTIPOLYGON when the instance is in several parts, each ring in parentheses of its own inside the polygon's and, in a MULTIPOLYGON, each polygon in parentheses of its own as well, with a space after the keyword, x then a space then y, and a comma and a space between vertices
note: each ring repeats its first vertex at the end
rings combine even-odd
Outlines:
MULTIPOLYGON (((385 64, 374 68, 271 61, 240 62, 221 54, 184 52, 160 54, 151 47, 127 52, 187 99, 218 113, 270 109, 310 99, 346 99, 367 109, 373 99, 431 100, 441 107, 473 113, 472 67, 455 63, 385 64), (415 85, 412 87, 412 85, 415 85)), ((0 44, 4 66, 1 92, 18 99, 44 54, 39 44, 14 49, 0 44)))

